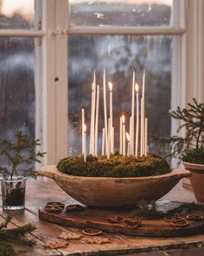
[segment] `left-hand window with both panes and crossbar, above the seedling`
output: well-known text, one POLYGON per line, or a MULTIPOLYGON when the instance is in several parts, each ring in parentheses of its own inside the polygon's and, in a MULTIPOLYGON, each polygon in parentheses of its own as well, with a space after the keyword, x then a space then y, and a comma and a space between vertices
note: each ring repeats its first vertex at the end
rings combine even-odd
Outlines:
POLYGON ((0 1, 0 138, 41 138, 41 38, 35 1, 0 1), (36 13, 35 13, 36 11, 36 13))

